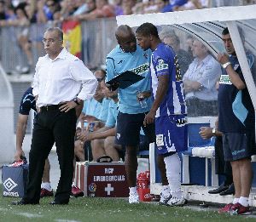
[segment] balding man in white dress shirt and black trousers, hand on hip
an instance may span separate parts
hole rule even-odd
[[[96,77],[83,62],[63,48],[63,32],[54,27],[44,33],[46,55],[39,58],[32,84],[37,98],[29,177],[25,196],[16,205],[38,204],[44,162],[55,143],[61,177],[51,204],[67,204],[73,179],[73,141],[84,100],[95,94]]]

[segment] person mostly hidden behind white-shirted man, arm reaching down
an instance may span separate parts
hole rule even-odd
[[[33,110],[37,113],[36,109],[36,100],[32,94],[32,88],[27,88],[26,92],[23,94],[22,99],[20,100],[20,110],[17,121],[16,128],[16,152],[15,152],[15,161],[19,162],[21,157],[25,157],[25,154],[22,150],[23,140],[26,134],[26,126],[29,117],[29,112]],[[49,159],[47,158],[44,163],[44,174],[41,184],[40,197],[44,196],[53,196],[53,191],[49,182]]]

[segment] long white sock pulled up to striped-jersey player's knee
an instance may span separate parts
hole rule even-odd
[[[169,157],[165,157],[164,160],[166,163],[166,176],[169,182],[171,194],[172,196],[181,198],[182,191],[181,191],[180,159],[177,156],[177,153],[175,153]]]

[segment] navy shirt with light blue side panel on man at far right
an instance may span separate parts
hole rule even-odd
[[[253,55],[247,54],[247,61],[252,68]],[[230,56],[230,63],[245,83],[237,57]],[[218,88],[218,130],[223,133],[246,133],[254,128],[253,103],[247,88],[238,90],[230,81],[228,73],[223,70]]]

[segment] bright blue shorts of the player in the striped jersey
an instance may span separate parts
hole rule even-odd
[[[155,118],[156,148],[159,155],[188,150],[186,115]]]

